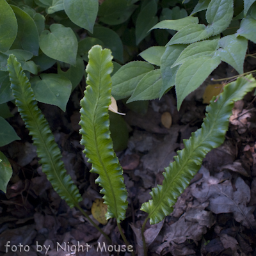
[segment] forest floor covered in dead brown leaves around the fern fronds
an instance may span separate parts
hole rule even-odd
[[[254,60],[246,62],[250,70],[255,69]],[[179,112],[173,89],[161,100],[151,100],[144,116],[120,103],[129,127],[127,148],[116,153],[124,168],[129,196],[127,218],[122,222],[122,228],[137,255],[143,255],[140,230],[147,216],[140,211],[141,204],[150,199],[151,188],[163,181],[164,167],[173,161],[176,151],[184,147],[182,140],[188,139],[191,132],[201,126],[207,106],[202,103],[205,86],[212,83],[212,77],[230,76],[234,76],[232,68],[222,63],[184,100]],[[81,84],[84,90],[84,81]],[[81,207],[93,218],[92,204],[102,195],[94,182],[97,175],[89,172],[90,164],[79,145],[81,97],[81,90],[77,88],[70,97],[66,113],[55,106],[39,106],[61,148],[67,172],[83,195]],[[256,255],[255,104],[253,92],[236,103],[225,142],[207,154],[202,168],[178,198],[172,214],[156,225],[147,223],[148,255]],[[77,209],[70,209],[52,189],[42,173],[36,148],[17,108],[10,104],[10,109],[14,116],[8,121],[21,140],[0,148],[13,167],[7,193],[0,194],[0,256],[70,255],[68,245],[78,242],[87,243],[90,248],[88,252],[76,252],[77,256],[131,255],[128,252],[97,252],[99,243],[109,243]],[[170,128],[162,124],[165,112],[172,115]],[[123,244],[115,220],[99,225],[111,236],[113,245]],[[8,241],[11,246],[6,253],[4,245]],[[63,248],[66,244],[66,250],[60,247],[57,250],[58,243]],[[17,247],[17,252],[12,252],[12,245],[19,244],[27,247]],[[43,246],[42,252],[36,252],[40,249],[36,244]]]

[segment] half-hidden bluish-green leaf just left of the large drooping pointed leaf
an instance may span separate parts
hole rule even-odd
[[[161,58],[161,74],[163,85],[159,98],[163,97],[166,90],[175,84],[175,76],[179,67],[171,68],[175,60],[180,56],[180,53],[186,48],[186,45],[170,45]]]

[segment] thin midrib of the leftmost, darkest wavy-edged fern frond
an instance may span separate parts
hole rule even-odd
[[[16,71],[17,77],[19,77],[19,72],[18,72],[18,74],[17,74],[17,70],[16,70],[16,69],[15,69],[15,71]],[[22,86],[21,86],[21,88],[22,88]],[[44,145],[43,145],[43,147],[45,148],[44,152],[46,152],[46,153],[47,153],[47,156],[49,156],[49,159],[51,159],[52,170],[54,170],[54,175],[55,175],[55,177],[57,177],[57,179],[58,179],[58,181],[59,181],[58,183],[61,184],[61,186],[62,186],[62,187],[64,188],[64,190],[66,191],[66,193],[67,193],[68,195],[70,195],[70,197],[72,198],[74,204],[77,205],[76,199],[69,193],[69,191],[67,190],[67,188],[63,185],[63,182],[61,181],[60,176],[58,175],[58,172],[57,172],[57,170],[56,170],[56,167],[55,167],[54,161],[53,161],[53,159],[52,159],[52,156],[51,156],[51,154],[49,154],[49,150],[47,150],[47,145],[46,145],[46,143],[45,143],[44,136],[42,136],[42,132],[40,131],[40,127],[38,126],[38,122],[36,122],[35,115],[33,115],[33,112],[31,111],[31,108],[30,108],[29,105],[28,105],[28,102],[27,102],[27,100],[26,100],[26,96],[24,95],[24,90],[22,90],[22,97],[23,97],[23,101],[24,101],[25,104],[26,104],[26,108],[28,109],[30,115],[31,115],[32,118],[33,118],[34,123],[36,124],[36,129],[37,129],[38,133],[40,134],[40,140],[43,141],[43,143],[44,143]],[[33,137],[33,136],[32,136],[32,137]],[[35,144],[37,144],[37,143],[35,143]]]

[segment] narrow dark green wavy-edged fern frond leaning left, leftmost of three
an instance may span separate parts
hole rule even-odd
[[[82,197],[65,170],[60,148],[54,141],[54,136],[44,115],[38,109],[28,78],[13,54],[10,54],[8,58],[8,71],[16,106],[33,138],[36,152],[41,158],[42,170],[60,197],[70,207],[74,207],[82,200]]]

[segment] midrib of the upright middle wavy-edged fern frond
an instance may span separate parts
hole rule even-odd
[[[101,74],[101,67],[102,67],[102,65],[101,65],[101,61],[102,60],[100,60],[100,69],[99,69],[99,77],[100,77],[100,84],[99,84],[99,88],[100,88],[100,86],[101,86],[101,76],[100,76],[100,74]],[[98,104],[98,102],[99,102],[99,98],[100,98],[100,90],[98,90],[98,92],[97,92],[97,104],[95,105],[95,111],[94,111],[94,113],[93,113],[93,124],[95,124],[95,118],[96,118],[96,113],[97,113],[97,108],[99,108],[99,104]],[[116,205],[116,196],[115,196],[115,193],[114,193],[114,191],[113,191],[113,186],[112,186],[112,182],[111,182],[111,179],[109,179],[109,175],[108,175],[108,171],[107,171],[107,168],[106,168],[106,166],[104,165],[104,161],[102,161],[102,158],[101,158],[101,156],[100,156],[100,150],[99,150],[99,146],[98,146],[98,140],[97,140],[97,136],[96,136],[96,125],[93,125],[93,133],[94,133],[94,140],[96,141],[96,147],[97,147],[97,156],[98,156],[98,158],[99,158],[99,162],[100,162],[100,164],[101,164],[101,166],[102,166],[102,169],[104,170],[104,172],[106,173],[106,177],[107,177],[107,179],[108,179],[108,182],[109,182],[109,184],[111,184],[111,193],[112,193],[112,195],[113,195],[113,199],[114,199],[114,201],[115,201],[115,216],[117,217],[118,216],[118,214],[117,214],[117,211],[116,211],[116,209],[117,209],[117,205]]]

